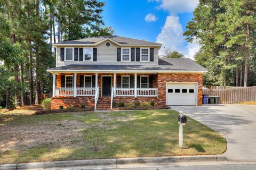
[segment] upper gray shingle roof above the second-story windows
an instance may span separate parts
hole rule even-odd
[[[139,39],[133,39],[133,38],[126,38],[126,37],[121,37],[121,36],[99,36],[99,37],[91,37],[91,38],[84,38],[84,39],[78,39],[78,40],[71,40],[71,41],[63,41],[58,44],[94,44],[97,43],[105,38],[110,38],[114,41],[116,41],[119,44],[133,44],[133,45],[162,45],[158,43],[153,43],[145,40],[139,40]]]

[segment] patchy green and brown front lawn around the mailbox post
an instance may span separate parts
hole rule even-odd
[[[188,118],[179,148],[178,113],[0,113],[0,163],[124,157],[215,155],[226,140]]]

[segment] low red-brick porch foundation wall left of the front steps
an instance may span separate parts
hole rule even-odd
[[[67,108],[68,106],[81,107],[85,105],[87,107],[94,106],[94,96],[90,97],[52,97],[52,109],[59,109],[60,106]]]

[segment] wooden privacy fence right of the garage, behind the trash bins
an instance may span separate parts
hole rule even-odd
[[[229,89],[203,89],[203,95],[220,96],[220,103],[231,104],[256,100],[256,86]]]

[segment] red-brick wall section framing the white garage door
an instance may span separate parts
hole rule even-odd
[[[166,102],[166,82],[197,82],[197,105],[202,106],[203,74],[158,74],[159,105],[165,105]]]

